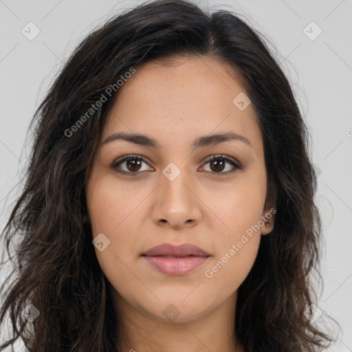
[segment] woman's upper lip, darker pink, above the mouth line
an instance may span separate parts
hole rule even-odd
[[[210,256],[210,254],[191,243],[182,245],[163,243],[144,252],[142,256]]]

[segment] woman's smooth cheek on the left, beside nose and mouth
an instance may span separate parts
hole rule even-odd
[[[135,188],[121,186],[111,175],[91,178],[87,186],[87,207],[91,220],[93,239],[98,234],[104,234],[104,250],[95,248],[96,257],[102,272],[115,287],[121,289],[118,283],[129,282],[129,287],[138,287],[138,281],[131,280],[128,267],[130,261],[137,256],[139,233],[133,227],[137,226],[138,205],[146,195],[137,192]],[[101,235],[100,235],[101,236]],[[92,239],[92,240],[93,240]],[[109,243],[108,245],[105,244]]]

